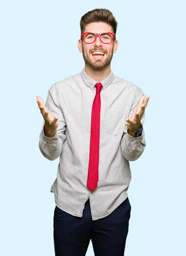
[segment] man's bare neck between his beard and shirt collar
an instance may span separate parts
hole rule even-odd
[[[95,70],[92,67],[85,64],[85,73],[92,79],[96,80],[97,82],[100,82],[106,79],[106,77],[110,75],[111,67],[109,64],[108,66],[104,67],[101,70]]]

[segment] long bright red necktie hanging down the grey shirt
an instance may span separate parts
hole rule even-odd
[[[88,172],[88,179],[87,179],[87,187],[92,191],[97,187],[97,181],[99,181],[98,165],[99,165],[99,148],[100,148],[100,109],[101,109],[100,91],[103,85],[95,84],[95,87],[96,87],[96,95],[92,105],[89,172]]]

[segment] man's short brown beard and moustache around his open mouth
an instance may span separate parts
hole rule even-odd
[[[83,59],[84,59],[85,63],[87,65],[89,65],[90,67],[92,67],[94,70],[101,70],[101,69],[103,69],[104,67],[108,66],[111,63],[112,57],[113,57],[113,49],[114,49],[114,45],[113,45],[112,51],[109,53],[109,55],[108,55],[108,52],[104,49],[91,49],[89,51],[89,55],[88,55],[85,52],[84,47],[82,45]],[[107,55],[107,57],[104,60],[103,59],[92,60],[90,55],[91,55],[91,52],[93,52],[93,51],[105,52],[105,55]]]

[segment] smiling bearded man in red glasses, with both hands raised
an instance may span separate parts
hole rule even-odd
[[[136,85],[114,76],[117,21],[107,9],[81,18],[79,51],[85,67],[49,89],[39,148],[60,157],[54,193],[56,256],[123,256],[131,205],[129,161],[145,148],[144,111],[149,100]],[[146,98],[146,99],[145,99]]]

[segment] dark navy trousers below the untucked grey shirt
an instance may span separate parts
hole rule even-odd
[[[131,205],[126,198],[110,215],[92,221],[90,201],[82,217],[54,209],[55,256],[85,256],[92,240],[95,256],[124,256]]]

